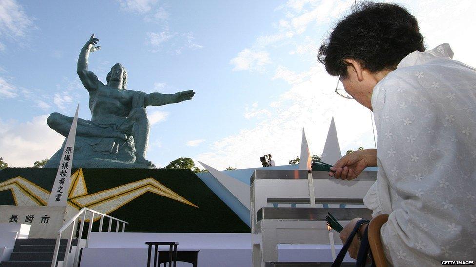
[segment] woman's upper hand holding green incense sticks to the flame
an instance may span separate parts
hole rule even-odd
[[[377,166],[377,149],[364,149],[354,151],[337,160],[331,167],[332,172],[329,176],[336,179],[353,180],[365,168]]]

